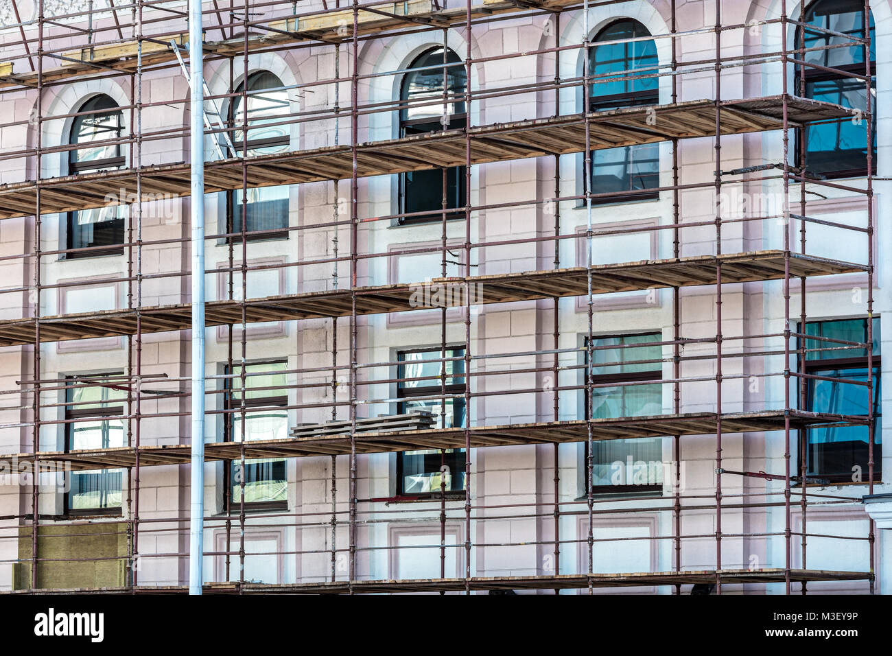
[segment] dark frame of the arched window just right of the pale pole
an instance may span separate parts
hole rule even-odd
[[[254,92],[254,91],[262,91],[263,89],[252,89],[251,88],[252,79],[257,79],[261,75],[267,75],[267,74],[276,78],[279,81],[280,86],[282,86],[282,87],[285,86],[284,84],[282,84],[282,79],[280,79],[276,75],[276,73],[274,73],[272,71],[267,71],[267,70],[253,71],[252,73],[249,73],[247,78],[243,79],[237,87],[235,87],[235,92],[234,92],[235,95],[233,96],[231,101],[227,104],[227,128],[232,130],[233,137],[235,137],[235,131],[243,131],[244,135],[246,137],[248,137],[246,141],[244,139],[233,138],[232,145],[235,146],[235,153],[233,155],[235,157],[240,156],[239,154],[241,154],[244,151],[246,153],[249,153],[248,155],[246,155],[246,157],[250,158],[250,157],[252,157],[250,152],[256,148],[270,148],[270,147],[276,147],[276,146],[285,146],[285,150],[288,150],[291,147],[291,135],[288,134],[287,132],[280,137],[266,137],[266,138],[252,139],[251,131],[252,131],[252,129],[257,129],[257,128],[251,127],[251,118],[250,118],[251,108],[250,107],[247,107],[246,112],[245,112],[248,117],[248,129],[244,129],[243,123],[239,123],[238,125],[235,124],[236,117],[237,117],[236,101],[241,101],[246,104],[248,102],[248,96],[244,95],[244,93],[243,93],[244,87],[248,87],[247,90],[248,90],[249,95],[252,94],[252,92]],[[272,87],[272,88],[275,88],[275,87]],[[247,188],[248,188],[248,190],[251,190],[251,189],[255,189],[255,188],[275,189],[276,187],[285,187],[286,195],[289,196],[288,197],[288,206],[289,206],[289,211],[290,211],[290,206],[291,206],[291,202],[290,202],[291,201],[291,198],[290,198],[291,186],[290,185],[272,185],[269,187],[247,187]],[[241,243],[241,241],[242,241],[243,233],[241,230],[236,232],[235,226],[236,226],[236,224],[241,224],[241,221],[243,219],[247,220],[247,216],[243,215],[242,208],[243,208],[243,205],[245,205],[246,212],[244,212],[244,214],[247,214],[248,213],[247,206],[250,206],[251,203],[238,202],[237,195],[241,191],[243,191],[242,187],[239,187],[238,189],[231,189],[229,191],[223,192],[223,194],[226,198],[225,218],[226,218],[226,233],[227,233],[228,237],[226,237],[225,241],[227,243],[232,242],[232,243],[236,244],[236,243]],[[253,241],[273,241],[273,240],[277,240],[277,239],[287,239],[289,237],[287,214],[288,214],[288,212],[286,212],[286,216],[285,216],[285,228],[282,228],[282,229],[274,228],[272,231],[245,230],[244,231],[245,241],[253,242]],[[237,220],[236,220],[236,217],[237,217]],[[252,233],[257,233],[257,232],[260,232],[261,234],[252,234]]]

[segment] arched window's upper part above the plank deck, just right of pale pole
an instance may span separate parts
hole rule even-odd
[[[248,154],[280,153],[288,149],[288,127],[281,125],[289,112],[288,92],[282,88],[282,80],[269,71],[257,71],[248,76],[247,89],[244,81],[235,89],[230,121],[235,131],[233,145],[241,151],[244,134],[241,129],[248,122]],[[247,95],[247,116],[244,113],[243,94]],[[272,123],[272,125],[270,125]],[[276,125],[279,123],[279,125]]]

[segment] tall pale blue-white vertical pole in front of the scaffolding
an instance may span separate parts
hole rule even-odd
[[[202,594],[204,532],[204,75],[202,0],[189,0],[189,147],[192,162],[192,502],[189,594]]]

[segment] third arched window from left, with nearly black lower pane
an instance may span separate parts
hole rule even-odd
[[[416,70],[409,71],[402,79],[400,99],[412,104],[403,106],[400,110],[400,136],[411,137],[439,129],[464,128],[467,124],[464,101],[452,97],[445,107],[445,114],[442,103],[444,79],[446,94],[449,96],[463,95],[467,88],[465,67],[458,55],[447,50],[444,58],[443,49],[435,48],[419,56],[409,68]],[[400,176],[400,212],[431,213],[405,218],[401,223],[441,219],[444,175],[446,208],[465,206],[467,189],[464,166],[453,166],[446,170],[409,171]],[[459,216],[464,214],[452,212],[446,218]]]

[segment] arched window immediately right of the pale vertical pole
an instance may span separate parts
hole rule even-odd
[[[283,125],[284,116],[289,112],[288,93],[282,88],[280,79],[268,71],[259,71],[248,76],[248,87],[244,82],[235,89],[235,97],[229,104],[229,125],[233,128],[232,141],[235,153],[247,156],[283,153],[291,142],[288,126]],[[245,103],[244,95],[247,96]],[[245,106],[247,110],[245,110]],[[244,124],[247,121],[247,144],[245,144]],[[236,189],[228,195],[227,232],[242,231],[242,190]],[[248,189],[247,223],[245,230],[278,230],[288,227],[288,187],[252,187]],[[286,232],[256,235],[256,239],[287,237]],[[248,237],[249,239],[252,237]]]

